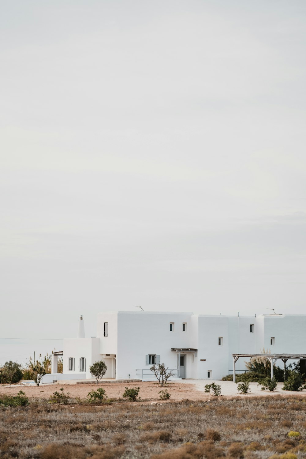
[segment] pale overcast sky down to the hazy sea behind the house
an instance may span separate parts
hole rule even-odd
[[[95,336],[135,305],[305,313],[305,22],[304,0],[1,2],[0,364],[80,314]]]

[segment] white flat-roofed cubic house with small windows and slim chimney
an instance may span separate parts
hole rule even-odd
[[[233,353],[306,353],[305,330],[306,315],[118,311],[98,314],[97,336],[85,338],[81,316],[78,337],[64,340],[64,374],[54,375],[55,356],[48,376],[91,378],[89,365],[102,359],[103,379],[153,379],[150,367],[160,362],[175,377],[219,380],[233,372]],[[245,371],[245,360],[237,361],[236,372]]]

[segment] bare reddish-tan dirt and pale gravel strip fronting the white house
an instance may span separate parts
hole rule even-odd
[[[221,386],[221,394],[223,397],[252,397],[252,396],[305,396],[306,391],[302,392],[287,392],[282,390],[282,383],[278,383],[278,387],[274,392],[261,391],[260,386],[257,383],[250,383],[250,394],[242,395],[237,391],[237,384],[234,384],[230,381],[215,381]],[[99,382],[98,387],[103,387],[106,391],[106,394],[109,398],[122,398],[122,393],[124,392],[125,387],[140,387],[139,396],[143,400],[157,401],[160,400],[159,393],[162,389],[167,388],[168,392],[171,395],[172,401],[179,401],[184,398],[189,398],[189,400],[205,400],[211,397],[210,394],[205,392],[205,385],[207,380],[184,380],[182,381],[173,381],[168,382],[167,386],[161,387],[157,382],[133,382],[133,383],[103,383]],[[23,384],[13,384],[11,386],[1,385],[0,393],[16,395],[17,392],[22,390],[26,393],[27,397],[44,397],[49,398],[55,391],[58,391],[61,387],[64,388],[65,392],[69,392],[71,397],[80,397],[86,398],[88,392],[92,389],[96,389],[96,384],[44,384],[41,386],[25,386]]]

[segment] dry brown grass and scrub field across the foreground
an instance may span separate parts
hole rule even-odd
[[[76,402],[1,406],[0,457],[306,458],[305,397]]]

